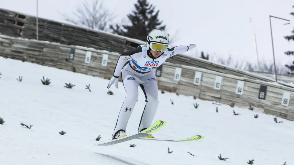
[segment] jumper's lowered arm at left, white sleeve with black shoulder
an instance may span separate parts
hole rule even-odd
[[[129,61],[133,61],[138,57],[138,55],[141,55],[142,47],[138,46],[137,48],[126,51],[121,53],[121,56],[118,58],[114,72],[113,77],[118,78],[121,74],[121,70],[123,69],[123,66],[128,63]]]

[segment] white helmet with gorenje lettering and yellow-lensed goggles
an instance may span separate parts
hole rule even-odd
[[[147,36],[147,50],[165,52],[168,48],[168,34],[162,29],[153,29]]]

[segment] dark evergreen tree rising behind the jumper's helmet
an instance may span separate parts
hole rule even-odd
[[[136,10],[127,15],[131,25],[111,25],[112,33],[145,41],[151,30],[155,28],[165,30],[166,26],[161,26],[163,21],[159,21],[159,10],[155,11],[155,6],[148,3],[147,0],[138,0],[134,6]]]

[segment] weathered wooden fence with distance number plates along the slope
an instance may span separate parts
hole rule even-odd
[[[32,63],[110,79],[119,53],[0,35],[0,54]],[[203,68],[165,62],[156,70],[158,88],[235,106],[255,107],[294,121],[294,89]],[[121,80],[121,77],[119,78]]]

